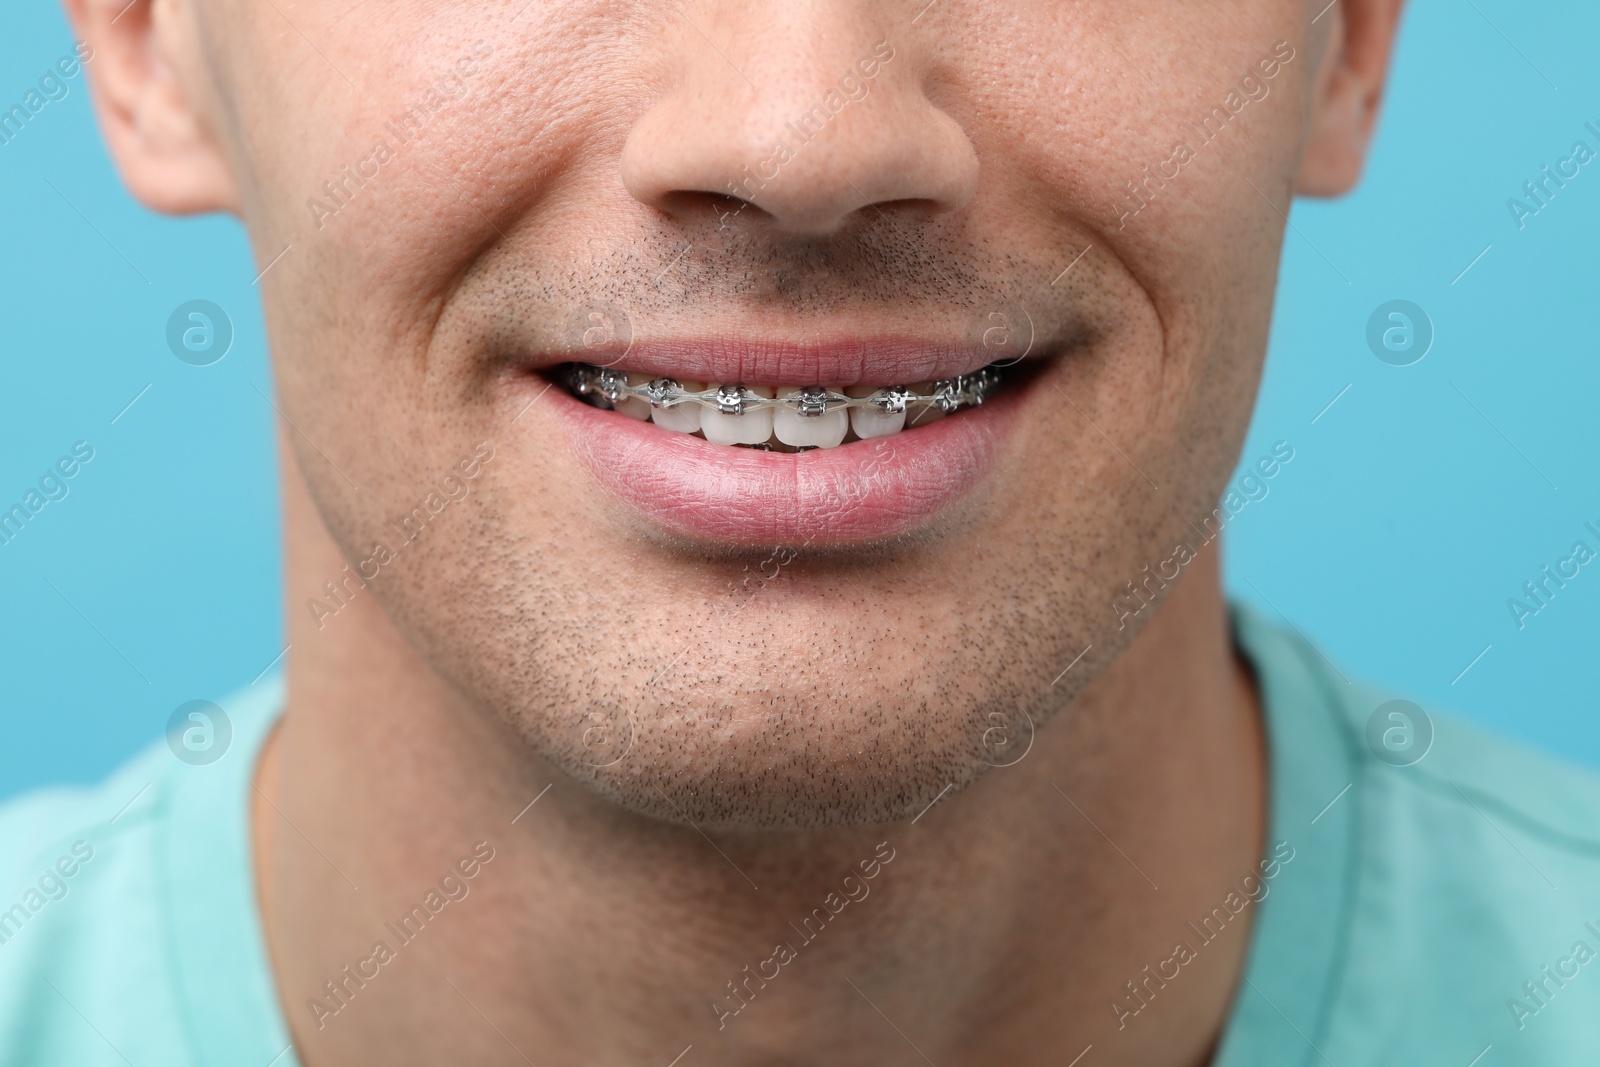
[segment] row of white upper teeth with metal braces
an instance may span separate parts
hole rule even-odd
[[[718,445],[834,448],[850,434],[858,438],[899,434],[907,424],[926,426],[960,408],[978,406],[1000,381],[986,366],[917,386],[715,386],[574,363],[571,390],[634,419],[680,434],[699,432]]]

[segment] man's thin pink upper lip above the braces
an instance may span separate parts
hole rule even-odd
[[[630,374],[750,386],[907,386],[971,374],[1011,352],[910,338],[635,341],[552,352],[533,366],[592,363]]]

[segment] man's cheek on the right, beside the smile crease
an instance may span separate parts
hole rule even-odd
[[[1158,408],[1171,429],[1210,421],[1205,406],[1232,421],[1256,386],[1312,75],[1302,5],[1258,6],[1248,30],[1222,34],[1213,13],[1179,6],[1163,11],[1163,34],[1141,35],[1131,32],[1134,5],[1098,13],[1102,37],[1070,5],[1056,14],[1034,5],[1022,8],[1032,18],[974,37],[1002,51],[1050,42],[1045,61],[1027,70],[974,75],[962,86],[973,90],[970,110],[957,117],[981,138],[986,194],[1003,205],[1045,202],[1077,222],[1078,246],[1093,243],[1090,256],[1123,272],[1134,302],[1149,309],[1139,315],[1157,333],[1160,382],[1136,387],[1155,400],[1126,413],[1134,434]],[[1278,40],[1293,43],[1296,58],[1272,93],[1229,112],[1229,91]],[[976,58],[966,67],[984,69]],[[1206,139],[1205,118],[1219,107],[1226,128]],[[1163,170],[1176,174],[1163,179]]]

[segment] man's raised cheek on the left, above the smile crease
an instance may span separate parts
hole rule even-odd
[[[363,27],[312,8],[301,29],[326,59],[302,54],[270,6],[253,8],[234,59],[258,229],[274,248],[315,245],[368,272],[381,264],[395,288],[426,285],[480,250],[594,141],[610,94],[627,83],[606,56],[571,48],[605,27],[544,8],[514,21],[515,8],[424,18],[402,6]],[[475,42],[490,54],[474,54]],[[456,74],[464,58],[475,61],[469,77]],[[358,165],[379,144],[389,158],[365,178],[373,165]]]

